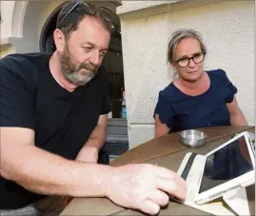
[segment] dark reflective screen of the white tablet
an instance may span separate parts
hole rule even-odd
[[[253,170],[245,136],[207,156],[199,193]]]

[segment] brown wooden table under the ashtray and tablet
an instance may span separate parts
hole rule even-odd
[[[231,136],[241,131],[252,131],[254,127],[212,127],[199,128],[207,134],[207,144],[204,147],[190,148],[181,145],[179,132],[174,132],[163,137],[155,138],[147,143],[134,147],[114,160],[110,166],[117,167],[130,163],[148,163],[167,167],[177,171],[185,154],[195,152],[206,154],[208,151],[219,147]],[[255,187],[246,187],[249,199],[250,211],[254,214]],[[252,197],[252,198],[251,198]],[[66,206],[61,215],[144,215],[142,212],[126,209],[114,205],[107,198],[74,198],[69,206]],[[159,215],[209,215],[198,209],[169,202],[162,208]]]

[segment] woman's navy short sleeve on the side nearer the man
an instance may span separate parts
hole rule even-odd
[[[167,124],[168,128],[173,126],[173,110],[170,106],[169,101],[163,95],[163,91],[160,91],[158,96],[158,102],[156,104],[154,115],[159,115],[159,120],[163,124]]]

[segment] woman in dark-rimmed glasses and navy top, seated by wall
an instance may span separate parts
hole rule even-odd
[[[179,29],[168,43],[167,60],[177,71],[159,93],[155,137],[170,131],[212,126],[246,126],[232,85],[223,69],[204,70],[206,46],[199,32]]]

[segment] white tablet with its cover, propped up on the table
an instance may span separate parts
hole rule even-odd
[[[255,155],[242,132],[225,144],[207,153],[187,153],[178,173],[188,185],[188,200],[205,204],[231,189],[255,183]]]

